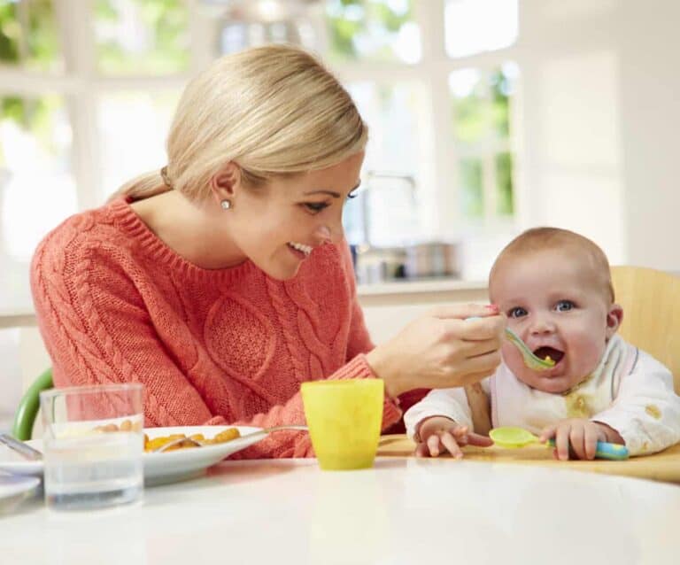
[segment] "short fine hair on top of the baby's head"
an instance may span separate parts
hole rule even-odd
[[[607,298],[614,303],[614,285],[609,268],[609,260],[598,244],[574,231],[561,228],[531,228],[515,237],[498,254],[491,267],[489,281],[501,262],[511,257],[526,255],[531,252],[563,251],[573,249],[579,258],[587,259],[592,272],[599,276],[602,289]]]

